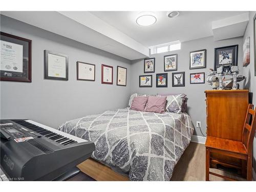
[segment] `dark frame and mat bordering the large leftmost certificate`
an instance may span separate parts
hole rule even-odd
[[[32,40],[0,32],[1,40],[23,46],[23,72],[0,71],[1,81],[32,82]],[[17,69],[17,68],[16,68]]]

